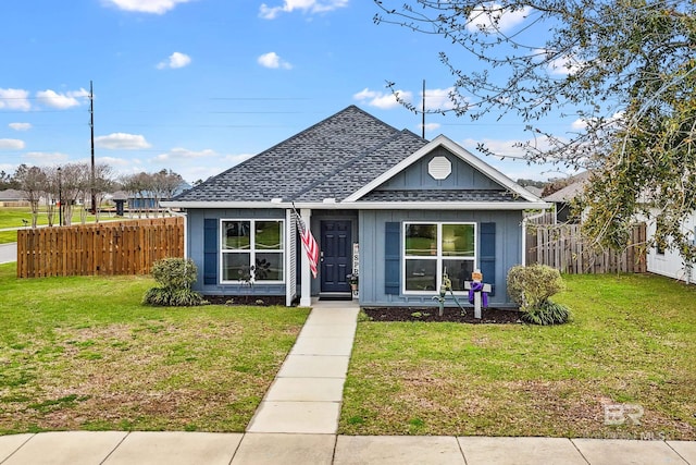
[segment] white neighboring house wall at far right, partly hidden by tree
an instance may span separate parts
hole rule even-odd
[[[655,221],[646,221],[646,236],[655,236]],[[682,223],[684,232],[691,232],[692,241],[696,240],[696,213],[692,213]],[[696,243],[694,243],[696,245]],[[696,264],[686,264],[679,250],[652,246],[647,250],[647,270],[650,273],[662,274],[686,283],[696,282]]]

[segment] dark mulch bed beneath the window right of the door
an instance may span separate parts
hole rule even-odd
[[[522,315],[518,310],[502,308],[484,308],[481,311],[481,319],[474,318],[474,309],[467,308],[462,315],[460,308],[445,308],[443,316],[439,316],[437,307],[363,307],[362,310],[372,321],[451,321],[459,323],[498,323],[498,325],[521,325]]]

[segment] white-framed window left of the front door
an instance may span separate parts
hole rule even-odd
[[[253,282],[284,281],[283,220],[222,220],[222,281],[236,282],[254,267]]]

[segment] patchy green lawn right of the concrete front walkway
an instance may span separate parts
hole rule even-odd
[[[339,432],[696,439],[696,286],[566,280],[559,327],[361,321]]]

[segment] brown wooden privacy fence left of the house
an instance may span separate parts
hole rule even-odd
[[[181,217],[17,231],[18,278],[146,274],[183,256]]]

